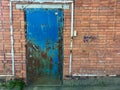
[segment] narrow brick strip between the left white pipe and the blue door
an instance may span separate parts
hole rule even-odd
[[[17,10],[13,3],[13,30],[16,76],[26,77],[25,20],[24,11]]]

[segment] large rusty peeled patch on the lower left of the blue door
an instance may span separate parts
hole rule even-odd
[[[47,55],[47,51],[42,51],[32,42],[27,43],[27,48],[28,81],[32,82],[33,80],[37,80],[37,77],[40,75],[44,75],[47,69],[51,71],[53,68],[53,61],[52,57]],[[37,48],[37,50],[35,48]]]

